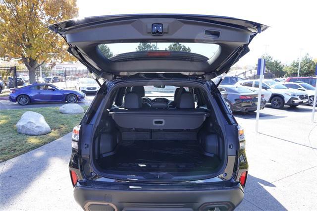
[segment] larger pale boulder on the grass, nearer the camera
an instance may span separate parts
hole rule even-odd
[[[33,136],[51,132],[50,125],[45,121],[44,116],[33,111],[23,113],[21,119],[16,123],[16,128],[18,129],[18,133]]]

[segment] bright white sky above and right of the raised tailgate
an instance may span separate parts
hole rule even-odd
[[[316,0],[77,0],[79,17],[186,13],[229,16],[270,26],[249,45],[237,65],[254,65],[262,54],[290,64],[300,54],[317,58]]]

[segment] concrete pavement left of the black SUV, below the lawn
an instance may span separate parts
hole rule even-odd
[[[70,154],[69,133],[0,163],[0,210],[81,210],[68,173]]]

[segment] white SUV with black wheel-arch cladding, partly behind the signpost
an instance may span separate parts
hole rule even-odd
[[[259,80],[240,81],[237,85],[247,87],[257,91],[259,89]],[[262,93],[267,103],[273,108],[281,109],[286,106],[296,107],[308,104],[308,94],[301,90],[288,89],[281,83],[272,80],[263,80]]]

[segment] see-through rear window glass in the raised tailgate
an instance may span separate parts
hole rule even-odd
[[[110,60],[122,53],[148,51],[190,52],[211,58],[220,50],[219,45],[206,43],[111,43],[98,48]]]

